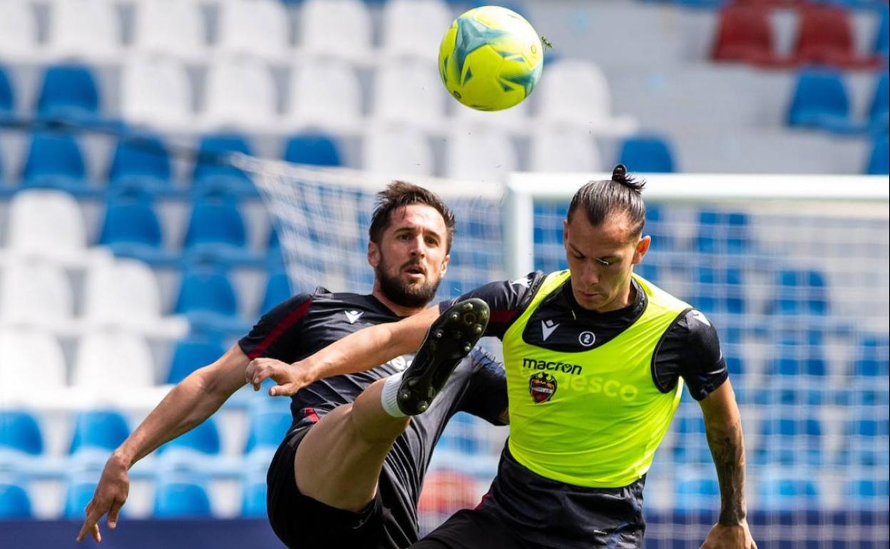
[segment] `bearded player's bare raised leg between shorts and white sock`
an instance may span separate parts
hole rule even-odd
[[[352,404],[331,410],[306,433],[294,461],[303,495],[356,513],[374,498],[384,458],[409,422],[384,411],[384,381],[369,385]]]

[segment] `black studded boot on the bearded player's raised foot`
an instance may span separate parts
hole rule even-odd
[[[455,303],[441,313],[401,377],[396,401],[402,413],[417,416],[430,407],[488,325],[489,305],[478,297]]]

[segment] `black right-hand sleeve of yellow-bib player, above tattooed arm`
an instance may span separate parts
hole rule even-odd
[[[707,397],[729,377],[716,328],[694,309],[667,329],[652,366],[660,391],[672,390],[682,376],[695,400]]]

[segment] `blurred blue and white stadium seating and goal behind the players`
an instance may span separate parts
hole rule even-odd
[[[387,179],[429,182],[457,210],[445,298],[515,276],[517,173],[536,189],[525,262],[554,270],[568,198],[548,186],[621,162],[653,189],[658,174],[714,174],[716,192],[807,174],[871,193],[828,202],[775,177],[793,200],[659,195],[638,271],[718,328],[758,543],[887,546],[886,1],[498,4],[554,48],[529,100],[481,113],[436,68],[475,4],[0,0],[0,545],[74,545],[111,449],[271,306],[319,284],[368,292]],[[303,167],[243,171],[229,152]],[[279,546],[265,471],[287,404],[243,390],[137,464],[103,545]],[[505,437],[452,420],[422,531],[476,505]],[[688,394],[646,500],[648,546],[697,547],[716,520]]]

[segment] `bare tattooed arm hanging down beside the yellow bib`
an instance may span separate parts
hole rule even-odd
[[[700,405],[720,482],[721,499],[720,517],[701,547],[756,549],[748,529],[745,505],[745,441],[739,407],[729,380],[701,400]]]

